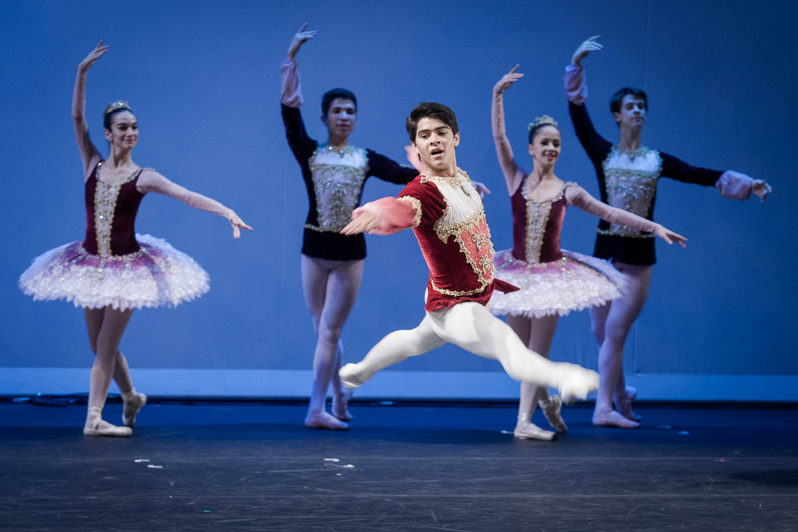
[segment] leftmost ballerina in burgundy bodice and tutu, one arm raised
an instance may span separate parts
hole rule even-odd
[[[69,242],[34,259],[19,278],[23,292],[34,300],[65,299],[83,307],[89,345],[95,353],[89,380],[89,411],[85,435],[128,436],[147,396],[136,392],[128,361],[119,343],[133,309],[178,305],[208,290],[208,275],[187,254],[168,242],[136,234],[134,225],[141,199],[157,192],[191,207],[227,219],[233,238],[246,223],[214,199],[172,183],[152,168],[133,162],[139,139],[138,123],[127,102],[117,100],[105,109],[105,139],[110,154],[103,160],[91,139],[84,116],[86,73],[109,47],[102,41],[77,67],[72,100],[77,146],[83,161],[86,231],[82,241]],[[111,378],[124,401],[118,427],[102,420]]]

